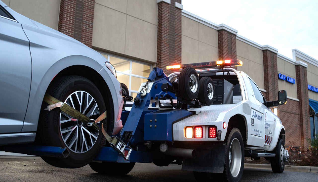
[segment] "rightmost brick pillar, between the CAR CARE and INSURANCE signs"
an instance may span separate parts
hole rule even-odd
[[[301,61],[296,61],[295,68],[297,97],[299,99],[301,148],[306,150],[308,147],[307,138],[310,138],[307,65]]]

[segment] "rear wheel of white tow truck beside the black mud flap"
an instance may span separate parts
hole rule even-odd
[[[223,173],[213,173],[211,179],[217,181],[239,181],[244,168],[244,145],[241,132],[233,128],[227,138]]]

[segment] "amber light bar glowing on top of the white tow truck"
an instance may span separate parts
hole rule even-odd
[[[242,66],[243,62],[238,59],[234,60],[218,60],[218,61],[210,61],[204,63],[191,63],[191,64],[183,64],[183,65],[172,65],[167,66],[167,69],[180,69],[186,67],[193,67],[193,68],[213,68],[220,65],[221,67],[230,66],[230,67],[237,67]]]

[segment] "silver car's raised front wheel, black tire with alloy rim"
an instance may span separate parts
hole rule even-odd
[[[81,76],[55,78],[47,94],[79,110],[91,119],[97,119],[106,110],[102,95],[92,81]],[[45,157],[42,159],[56,167],[78,168],[91,162],[99,153],[104,136],[94,127],[68,116],[58,108],[50,112],[44,110],[48,104],[43,102],[36,143],[46,146],[67,148],[68,157]],[[107,128],[106,119],[97,123]],[[85,139],[85,140],[84,140]]]

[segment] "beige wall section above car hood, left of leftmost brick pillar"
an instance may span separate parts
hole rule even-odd
[[[60,0],[4,0],[12,10],[41,24],[58,29]]]

